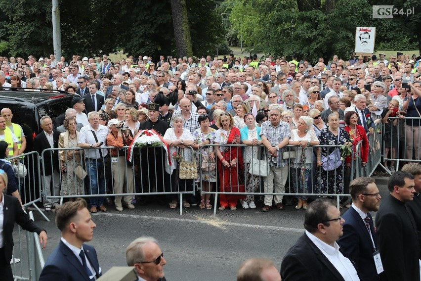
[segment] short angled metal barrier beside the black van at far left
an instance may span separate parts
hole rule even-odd
[[[19,159],[19,163],[24,164],[26,169],[26,176],[20,177],[19,175],[16,175],[16,185],[19,189],[19,195],[23,206],[34,207],[42,215],[42,217],[49,222],[49,219],[36,205],[37,202],[42,201],[40,155],[37,151],[32,151],[16,157],[8,158],[8,160],[12,161],[16,158]]]

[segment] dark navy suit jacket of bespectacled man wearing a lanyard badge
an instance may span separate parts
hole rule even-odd
[[[377,248],[377,235],[374,232],[373,218],[370,213],[367,215],[370,218],[370,231]],[[379,280],[373,258],[373,253],[376,250],[373,248],[373,241],[366,224],[353,207],[349,208],[343,214],[342,218],[345,220],[343,224],[343,235],[337,240],[337,243],[349,259],[357,266],[361,281]]]

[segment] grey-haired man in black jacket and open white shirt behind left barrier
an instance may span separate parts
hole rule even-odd
[[[34,150],[37,151],[40,156],[42,151],[50,148],[58,147],[58,138],[60,134],[53,129],[51,118],[47,115],[43,116],[40,120],[40,126],[42,132],[38,134],[34,139]],[[60,195],[60,172],[59,172],[59,157],[58,150],[49,150],[43,154],[43,165],[45,173],[43,173],[42,183],[44,185],[45,195],[46,196],[58,196]],[[53,192],[51,193],[51,187]],[[45,211],[51,211],[51,207],[55,207],[59,204],[58,198],[44,198],[44,208]]]

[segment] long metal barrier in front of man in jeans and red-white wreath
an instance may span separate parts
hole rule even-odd
[[[42,177],[42,194],[44,200],[50,200],[52,204],[59,204],[64,198],[83,197],[95,200],[97,197],[122,196],[122,202],[126,200],[131,203],[133,195],[155,195],[168,196],[177,195],[180,202],[183,201],[184,194],[195,194],[194,180],[186,181],[179,185],[175,177],[178,170],[174,169],[172,176],[167,173],[168,165],[165,159],[165,149],[161,146],[147,148],[133,148],[133,158],[131,163],[127,159],[128,146],[118,149],[116,154],[111,156],[111,150],[117,148],[105,146],[101,148],[83,149],[72,148],[50,148],[42,152],[42,163],[52,163],[50,167],[42,165],[42,173],[51,169],[55,171],[55,176]],[[89,151],[102,149],[103,159],[88,158]],[[194,153],[189,147],[190,153]],[[67,155],[66,171],[60,169],[60,165],[54,165],[54,152],[62,151]],[[105,153],[106,152],[106,153]],[[169,151],[168,151],[169,153]],[[97,153],[99,155],[99,153]],[[117,156],[119,155],[119,156]],[[54,156],[58,157],[58,156]],[[45,161],[47,158],[48,161]],[[171,161],[174,161],[171,159]],[[57,163],[57,161],[56,161]],[[76,168],[86,172],[84,180],[78,178]],[[46,169],[47,168],[47,169]],[[46,183],[50,180],[50,187],[56,184],[59,188],[51,188],[50,193],[46,190]],[[60,202],[58,201],[60,200]],[[124,202],[123,202],[124,205]],[[182,203],[179,204],[180,215],[182,214]]]

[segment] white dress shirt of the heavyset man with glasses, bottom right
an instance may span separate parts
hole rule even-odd
[[[355,269],[352,262],[345,258],[341,252],[339,252],[339,245],[337,242],[329,245],[314,236],[313,234],[305,231],[305,234],[310,240],[316,245],[317,248],[325,255],[325,257],[332,263],[339,274],[343,277],[344,281],[359,281],[357,270]]]

